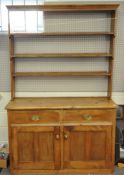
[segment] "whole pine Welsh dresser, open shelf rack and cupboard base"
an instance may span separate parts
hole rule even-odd
[[[115,46],[116,9],[119,4],[66,4],[7,6],[14,11],[43,11],[52,14],[95,12],[110,16],[109,31],[59,31],[16,33],[9,21],[11,101],[6,106],[11,174],[45,173],[112,173],[115,157],[116,104],[112,101],[112,74]],[[55,16],[55,15],[53,15]],[[64,15],[65,16],[65,15]],[[11,17],[11,15],[9,16]],[[107,16],[108,17],[108,16]],[[10,19],[10,18],[9,18]],[[69,18],[70,19],[70,18]],[[75,18],[76,19],[76,18]],[[11,20],[11,19],[10,19]],[[108,24],[108,23],[107,23]],[[26,25],[26,24],[25,24]],[[15,30],[16,31],[16,30]],[[52,36],[52,37],[51,37]],[[107,37],[107,53],[17,53],[16,43],[29,37]],[[22,40],[21,40],[22,41]],[[30,40],[29,40],[30,41]],[[18,72],[16,59],[102,59],[108,61],[107,71]],[[105,97],[16,97],[18,77],[104,77],[108,79]]]

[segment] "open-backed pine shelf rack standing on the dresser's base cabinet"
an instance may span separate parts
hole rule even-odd
[[[114,47],[115,47],[115,11],[119,4],[61,4],[61,5],[14,5],[7,6],[8,16],[10,11],[50,11],[50,12],[101,12],[111,13],[111,30],[106,32],[43,32],[43,33],[11,33],[10,21],[9,26],[9,39],[10,39],[10,67],[11,67],[11,99],[15,97],[15,83],[16,77],[40,77],[40,76],[82,76],[82,77],[96,77],[106,76],[108,79],[107,97],[112,97],[112,75],[113,75],[113,58],[114,58]],[[10,19],[10,18],[9,18]],[[110,36],[110,49],[109,53],[14,53],[14,38],[15,37],[42,37],[42,36]],[[15,72],[15,61],[16,58],[31,59],[31,58],[109,58],[108,59],[108,71],[94,71],[94,72]]]

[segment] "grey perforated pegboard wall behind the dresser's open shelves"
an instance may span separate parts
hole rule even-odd
[[[114,62],[113,91],[124,90],[124,2],[119,2]],[[44,30],[110,31],[110,15],[105,13],[45,13]],[[32,37],[16,38],[15,53],[108,52],[109,37]],[[93,71],[107,70],[106,58],[18,59],[16,71]],[[0,91],[10,91],[9,47],[7,34],[0,34]],[[20,92],[104,92],[106,78],[47,77],[17,78]]]

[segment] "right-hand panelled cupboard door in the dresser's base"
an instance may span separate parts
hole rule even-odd
[[[111,125],[65,126],[64,168],[110,168],[112,166],[111,133]]]

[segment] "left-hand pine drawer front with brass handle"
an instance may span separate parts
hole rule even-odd
[[[52,110],[42,111],[13,111],[10,112],[9,120],[15,124],[38,124],[59,122],[59,112]]]

